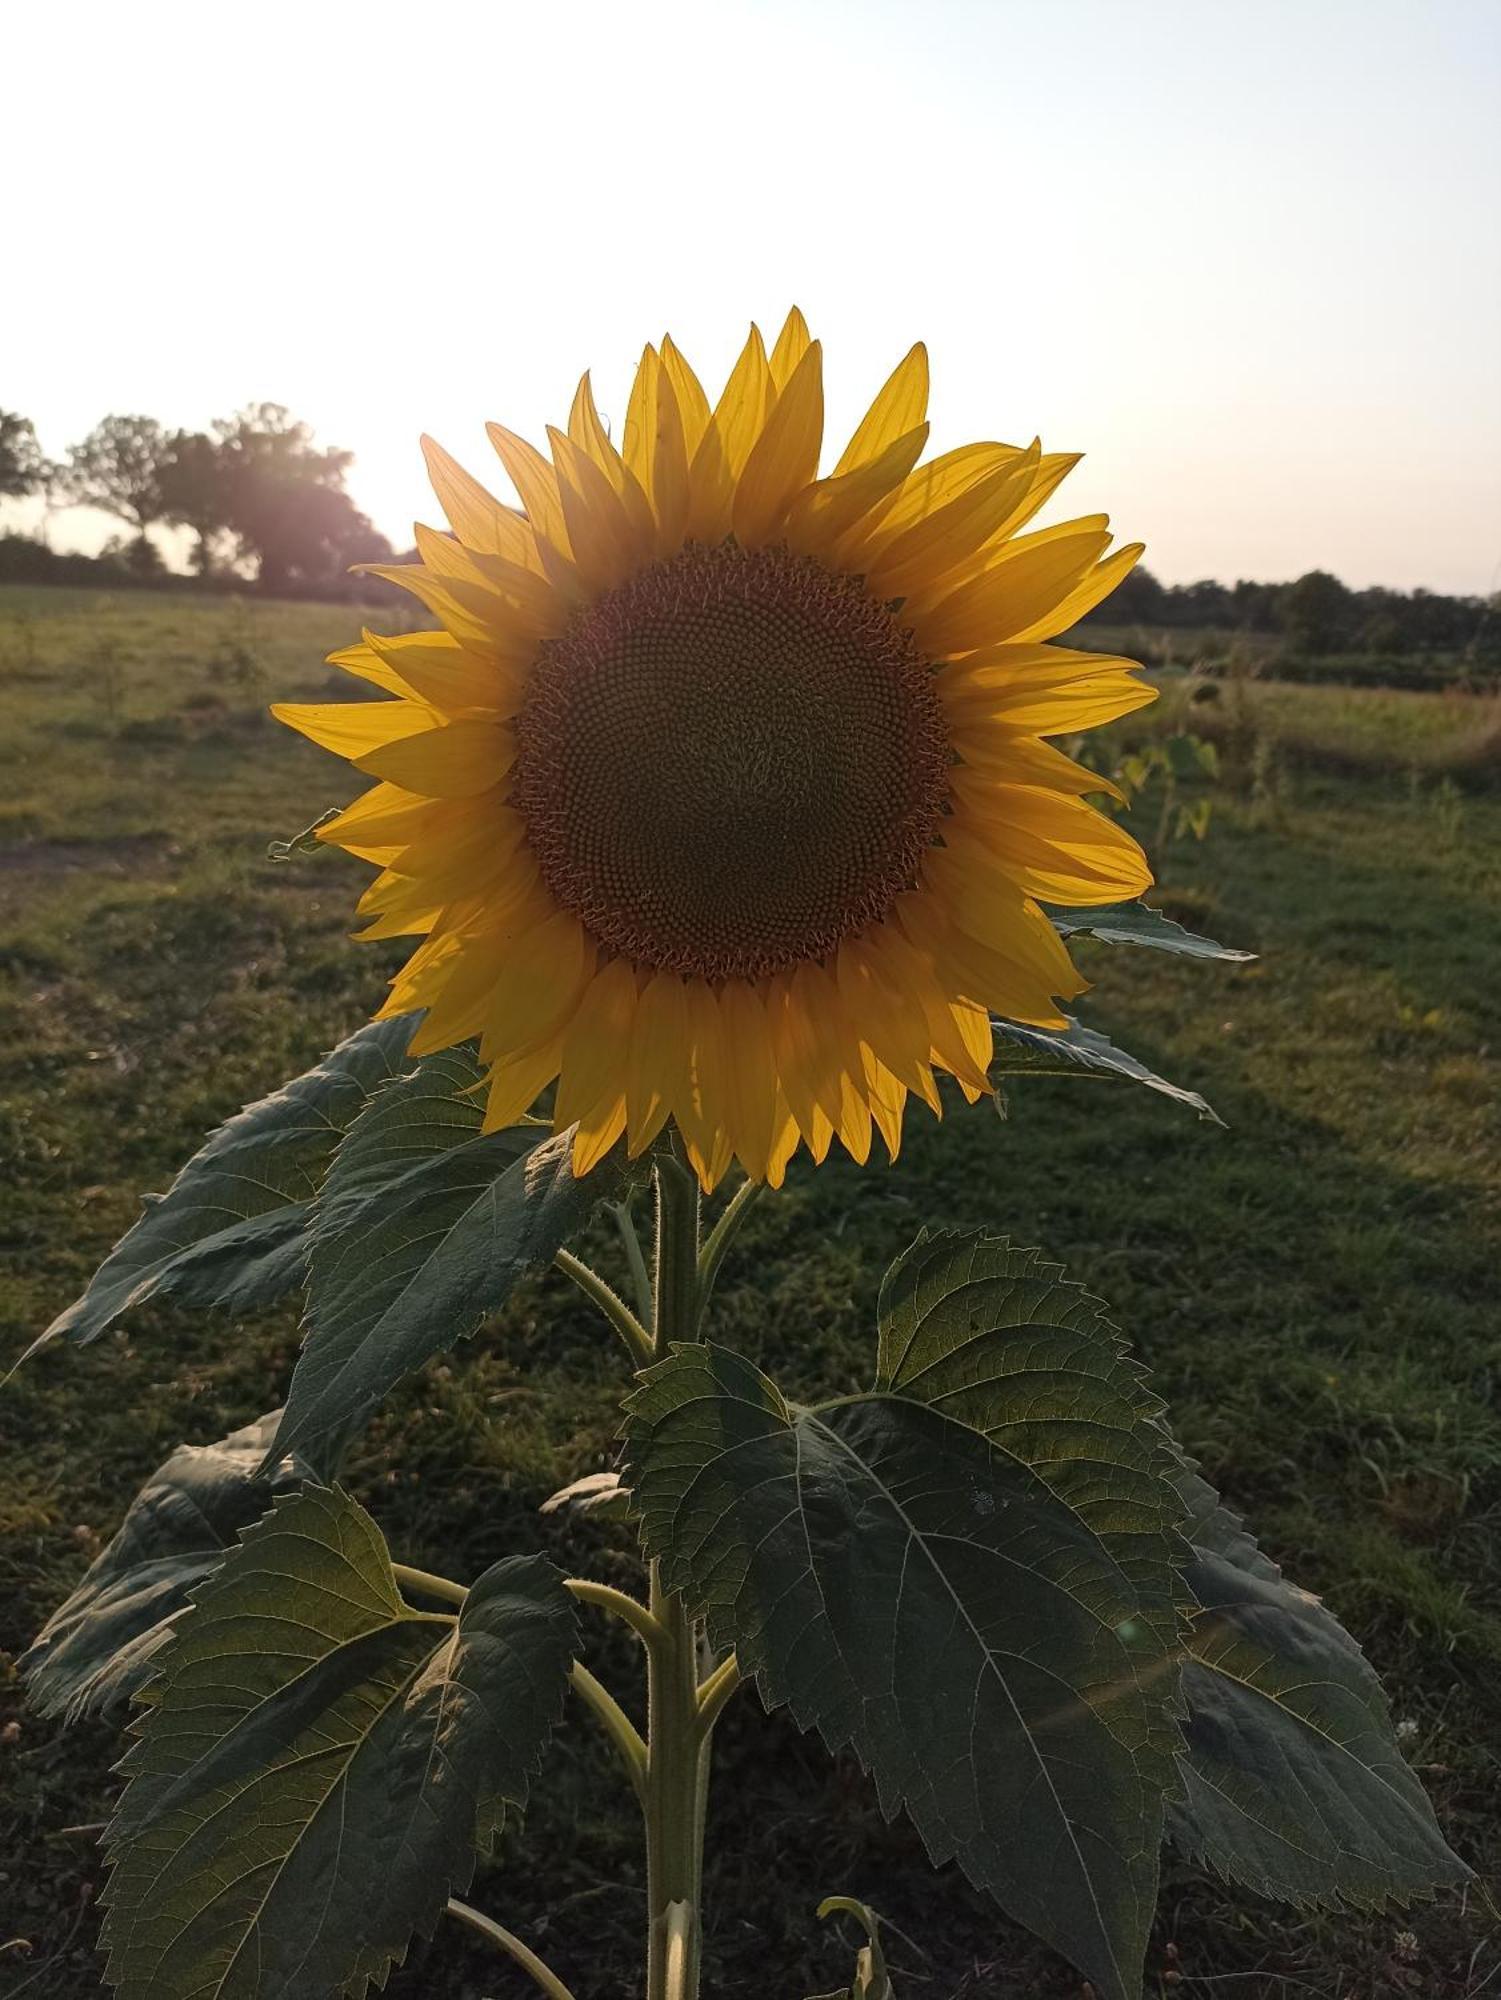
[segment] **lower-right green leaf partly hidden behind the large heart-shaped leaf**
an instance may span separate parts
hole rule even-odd
[[[1295,1904],[1377,1908],[1467,1880],[1361,1648],[1205,1480],[1183,1474],[1183,1492],[1201,1610],[1183,1668],[1175,1844]]]

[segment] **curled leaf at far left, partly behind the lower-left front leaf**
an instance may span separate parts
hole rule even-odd
[[[122,1708],[156,1672],[190,1590],[218,1568],[240,1528],[278,1492],[316,1478],[300,1458],[258,1474],[280,1414],[218,1444],[182,1444],[152,1472],[120,1532],[20,1658],[40,1714],[76,1722]]]

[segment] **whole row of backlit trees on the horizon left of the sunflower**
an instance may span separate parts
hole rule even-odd
[[[164,574],[156,526],[192,532],[200,576],[254,576],[270,594],[312,594],[340,584],[354,562],[388,560],[390,542],[344,490],[352,462],[276,402],[208,430],[106,416],[58,462],[24,416],[0,410],[0,498],[36,494],[126,522],[134,540],[124,560],[142,580]]]

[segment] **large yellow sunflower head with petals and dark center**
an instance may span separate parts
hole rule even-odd
[[[1141,546],[1021,534],[1077,462],[1037,442],[919,464],[927,390],[919,344],[821,478],[795,310],[712,406],[648,346],[618,448],[588,376],[550,456],[492,424],[518,510],[424,440],[452,534],[374,574],[440,630],[332,654],[380,700],[274,712],[378,780],[320,838],[380,868],[362,934],[420,940],[382,1016],[478,1036],[486,1128],[556,1080],[580,1174],[668,1120],[704,1190],[895,1156],[935,1072],[989,1088],[991,1014],[1081,992],[1039,902],[1149,884],[1047,742],[1151,700],[1049,644]]]

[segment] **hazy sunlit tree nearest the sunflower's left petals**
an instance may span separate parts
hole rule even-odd
[[[390,554],[344,492],[354,454],[314,444],[312,428],[282,404],[250,404],[214,434],[228,524],[264,590],[330,588],[350,564]]]

